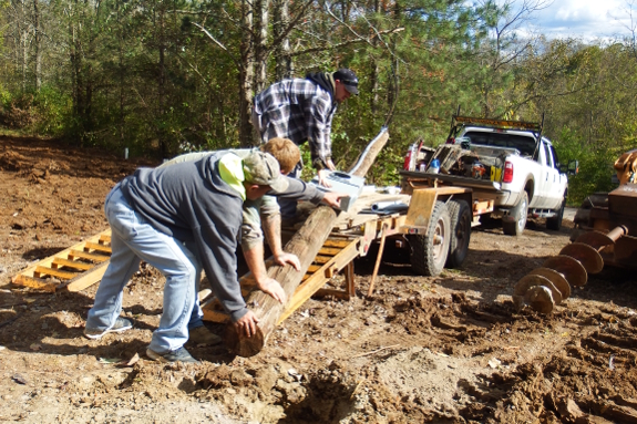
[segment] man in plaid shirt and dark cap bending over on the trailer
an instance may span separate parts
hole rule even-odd
[[[274,137],[289,138],[297,145],[309,142],[319,183],[329,187],[326,170],[336,169],[331,159],[331,121],[337,105],[352,94],[358,95],[358,79],[349,69],[309,73],[305,79],[284,80],[255,96],[253,125],[258,131],[261,143]],[[301,167],[299,162],[288,176],[299,177]],[[281,217],[292,218],[296,203],[279,203]]]

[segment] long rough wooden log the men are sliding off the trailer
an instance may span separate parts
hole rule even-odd
[[[388,139],[389,133],[383,128],[383,131],[381,131],[381,133],[370,142],[361,154],[361,157],[358,159],[351,174],[358,177],[364,177]],[[285,246],[285,251],[295,254],[299,258],[301,263],[300,272],[297,272],[289,265],[286,267],[273,266],[268,269],[268,277],[274,278],[281,283],[281,287],[286,292],[288,303],[323,242],[329,237],[333,224],[339,215],[340,213],[337,214],[336,210],[328,206],[317,207],[310,214],[302,227]],[[246,303],[259,320],[257,334],[251,338],[246,338],[244,334],[238,334],[233,324],[228,324],[226,327],[224,338],[226,345],[233,352],[245,358],[253,356],[263,350],[268,337],[274,331],[279,317],[287,307],[287,304],[280,304],[260,290],[251,292],[247,298]]]

